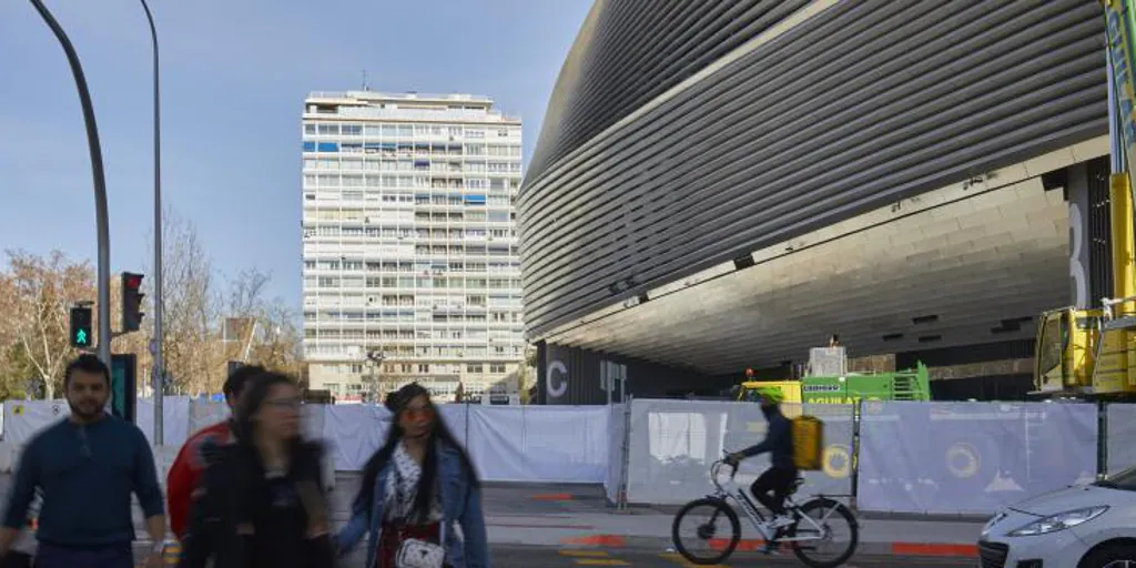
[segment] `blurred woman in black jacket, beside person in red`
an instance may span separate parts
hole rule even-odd
[[[236,419],[236,442],[212,450],[182,566],[331,567],[320,449],[300,435],[299,389],[287,376],[258,375]]]

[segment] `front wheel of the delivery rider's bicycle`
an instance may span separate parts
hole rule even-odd
[[[684,520],[694,521],[695,538],[691,542],[685,542],[682,536]],[[722,527],[728,531],[726,534],[718,527],[721,520],[728,523],[728,526]],[[737,521],[737,513],[725,501],[713,498],[699,499],[686,503],[675,515],[670,537],[675,541],[678,553],[690,562],[717,565],[734,553],[738,541],[742,540],[742,524]],[[698,544],[704,548],[696,546]]]

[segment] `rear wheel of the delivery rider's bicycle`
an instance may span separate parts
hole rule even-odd
[[[852,558],[860,542],[860,526],[844,503],[818,498],[801,506],[797,512],[801,517],[790,529],[790,536],[816,537],[816,540],[792,541],[793,554],[797,559],[813,568],[836,568]],[[817,531],[804,517],[812,519],[812,523],[819,525],[822,531]]]

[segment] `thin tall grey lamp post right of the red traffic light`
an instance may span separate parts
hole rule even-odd
[[[147,22],[150,23],[150,40],[153,43],[153,343],[150,351],[153,354],[153,366],[151,368],[151,384],[153,387],[153,442],[162,444],[165,420],[165,374],[161,359],[161,103],[160,84],[158,81],[158,28],[153,25],[153,14],[145,0],[142,9],[145,10]]]

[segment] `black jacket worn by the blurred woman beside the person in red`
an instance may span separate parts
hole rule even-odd
[[[314,515],[327,519],[318,444],[301,442],[290,471],[276,478],[248,445],[203,448],[202,454],[203,494],[190,512],[181,568],[204,568],[210,559],[214,568],[333,566],[329,537],[307,537]]]

